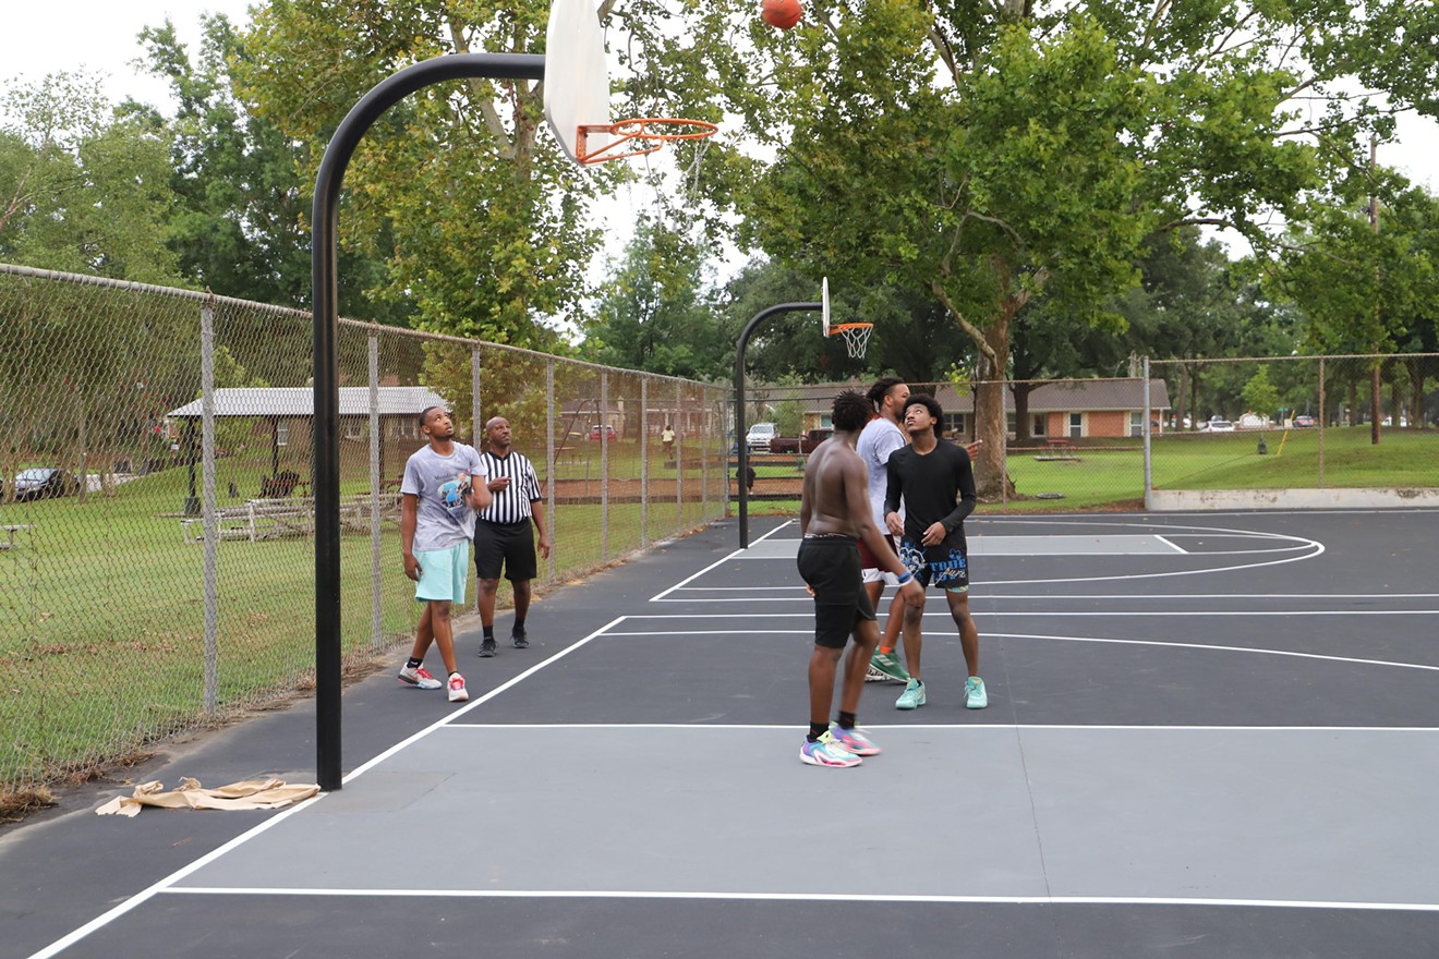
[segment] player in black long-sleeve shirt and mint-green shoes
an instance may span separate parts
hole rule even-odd
[[[885,490],[885,525],[899,536],[899,559],[920,585],[944,589],[950,615],[960,630],[960,647],[968,679],[964,705],[989,706],[989,693],[980,679],[980,633],[970,617],[970,556],[964,542],[964,518],[974,512],[974,467],[964,447],[941,443],[944,410],[934,397],[912,394],[904,413],[909,446],[889,454]],[[899,519],[899,500],[905,516]],[[920,679],[922,608],[907,607],[904,618],[905,661],[909,683],[895,702],[896,709],[918,709],[925,703]]]

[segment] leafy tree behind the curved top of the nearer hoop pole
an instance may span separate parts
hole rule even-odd
[[[304,144],[314,183],[330,134],[387,75],[442,53],[535,52],[548,3],[504,9],[442,0],[337,7],[283,0],[256,9],[232,62],[246,109]],[[616,171],[581,174],[540,137],[540,85],[430,86],[391,108],[345,175],[341,244],[383,257],[371,293],[417,312],[417,326],[553,348],[541,321],[578,308],[600,231],[587,208]]]

